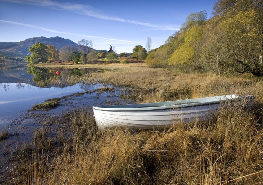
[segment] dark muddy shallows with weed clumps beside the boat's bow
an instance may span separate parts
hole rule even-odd
[[[11,121],[5,128],[8,132],[7,138],[0,141],[0,183],[11,182],[11,179],[15,178],[21,156],[32,154],[31,150],[45,145],[41,138],[53,145],[51,148],[54,151],[47,152],[50,158],[61,151],[65,142],[70,143],[74,137],[72,120],[76,115],[93,116],[92,106],[95,105],[135,103],[131,99],[123,99],[119,88],[110,85],[93,87],[49,99],[46,102],[56,101],[57,104],[47,109],[28,110]]]

